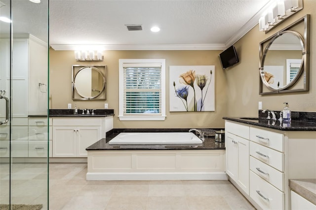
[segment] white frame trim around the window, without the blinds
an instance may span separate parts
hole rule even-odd
[[[140,63],[154,63],[154,64],[161,64],[161,115],[154,116],[124,116],[123,114],[123,102],[124,102],[124,87],[123,87],[123,80],[124,80],[124,64],[140,64]],[[118,117],[119,120],[165,120],[165,113],[166,113],[166,93],[165,93],[165,59],[119,59],[118,60]]]

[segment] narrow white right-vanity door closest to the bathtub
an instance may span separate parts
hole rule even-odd
[[[231,133],[225,135],[226,173],[235,181],[238,178],[238,141],[236,138],[237,136]]]

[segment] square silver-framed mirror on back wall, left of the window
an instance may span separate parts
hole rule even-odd
[[[106,100],[106,66],[73,65],[73,100]]]

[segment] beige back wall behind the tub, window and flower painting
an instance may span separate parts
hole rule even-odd
[[[221,50],[206,51],[104,51],[103,62],[77,62],[73,51],[50,49],[50,107],[114,109],[114,128],[223,128],[227,110],[226,78],[219,62]],[[166,59],[166,119],[165,121],[118,120],[118,59]],[[72,65],[107,65],[107,100],[72,100]],[[215,111],[169,112],[169,66],[215,65]],[[172,86],[173,87],[173,86]]]

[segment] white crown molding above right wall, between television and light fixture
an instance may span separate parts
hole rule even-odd
[[[260,17],[264,14],[265,11],[275,2],[275,0],[268,1],[252,18],[243,25],[238,32],[232,36],[228,41],[225,43],[225,47],[228,48],[235,44],[242,36],[246,35],[251,29],[259,24]]]

